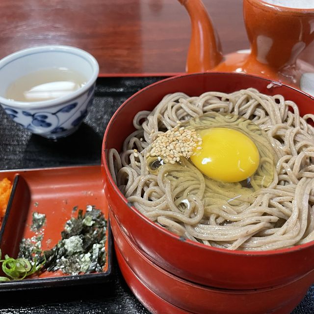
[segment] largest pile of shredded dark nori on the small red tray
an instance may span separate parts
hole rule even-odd
[[[101,210],[88,205],[83,215],[83,210],[79,209],[78,217],[66,222],[57,245],[44,252],[46,263],[43,270],[60,269],[70,275],[103,272],[106,227]]]

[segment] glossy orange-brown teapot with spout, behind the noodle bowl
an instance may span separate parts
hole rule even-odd
[[[255,74],[314,95],[314,67],[298,59],[314,40],[314,6],[291,8],[288,0],[286,6],[272,4],[285,3],[284,0],[243,0],[251,49],[223,56],[218,35],[202,1],[179,1],[191,19],[187,72]]]

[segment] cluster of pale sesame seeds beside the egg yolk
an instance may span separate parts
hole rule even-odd
[[[202,139],[194,129],[176,126],[157,136],[146,157],[161,157],[164,163],[175,164],[180,157],[190,158],[201,149]]]

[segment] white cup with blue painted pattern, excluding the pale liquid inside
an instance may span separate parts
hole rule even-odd
[[[86,78],[86,84],[52,100],[22,102],[6,98],[8,87],[22,76],[49,68],[67,68]],[[34,134],[60,138],[72,134],[92,105],[97,60],[69,46],[42,46],[13,53],[0,60],[0,105],[15,122]]]

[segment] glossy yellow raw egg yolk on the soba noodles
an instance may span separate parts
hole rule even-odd
[[[239,182],[250,177],[259,167],[260,154],[245,134],[229,128],[210,128],[198,132],[201,149],[191,160],[209,178]]]

